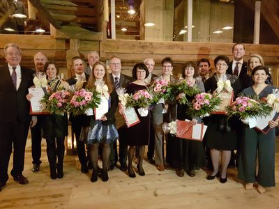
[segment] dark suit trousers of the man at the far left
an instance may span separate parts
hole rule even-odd
[[[8,164],[13,151],[12,176],[21,176],[24,169],[24,154],[29,122],[0,123],[0,183],[8,180]]]

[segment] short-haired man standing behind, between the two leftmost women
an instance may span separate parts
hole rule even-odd
[[[79,81],[86,81],[89,78],[89,75],[84,73],[84,63],[82,59],[79,56],[75,56],[72,59],[72,68],[75,72],[75,75],[69,79],[66,80],[70,86],[73,86],[75,88],[75,84],[77,83],[77,80]],[[84,125],[84,117],[83,116],[73,116],[73,114],[70,114],[69,120],[72,123],[73,132],[75,134],[75,139],[77,142],[77,155],[80,160],[82,173],[88,173],[87,168],[87,157],[85,152],[85,146],[84,142],[80,141],[80,132],[82,130],[82,125]]]

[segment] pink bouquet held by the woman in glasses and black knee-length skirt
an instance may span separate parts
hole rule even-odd
[[[192,102],[188,102],[187,114],[192,118],[209,116],[213,111],[216,111],[220,102],[221,99],[217,95],[199,93],[195,95]]]

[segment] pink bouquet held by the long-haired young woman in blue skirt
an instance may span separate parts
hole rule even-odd
[[[78,116],[84,114],[89,108],[98,107],[98,104],[100,104],[100,93],[81,88],[73,93],[73,97],[68,104],[68,111],[73,116]]]

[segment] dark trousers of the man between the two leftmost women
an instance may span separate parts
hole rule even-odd
[[[80,132],[82,130],[82,122],[80,120],[75,120],[75,118],[72,119],[72,128],[73,132],[75,134],[75,140],[77,141],[77,155],[80,160],[80,164],[82,166],[86,166],[87,159],[86,159],[86,152],[85,152],[85,146],[84,142],[80,141]]]

